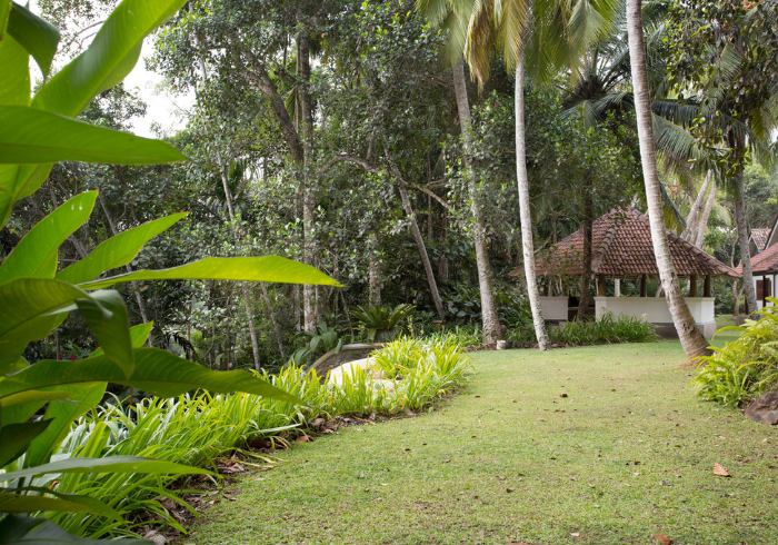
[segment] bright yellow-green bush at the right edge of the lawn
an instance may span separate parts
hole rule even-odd
[[[774,305],[778,300],[767,298]],[[762,318],[746,320],[742,326],[719,329],[740,331],[737,340],[724,348],[711,346],[707,365],[692,380],[697,394],[711,402],[739,407],[778,385],[778,309],[761,309]]]

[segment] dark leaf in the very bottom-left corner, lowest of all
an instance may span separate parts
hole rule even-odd
[[[48,518],[7,515],[0,521],[0,545],[104,545],[104,541],[68,534]],[[121,545],[151,545],[148,539],[121,539]]]

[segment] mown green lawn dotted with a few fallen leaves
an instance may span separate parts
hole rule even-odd
[[[677,341],[477,353],[462,394],[282,453],[184,543],[778,543],[778,430],[698,402],[682,361]]]

